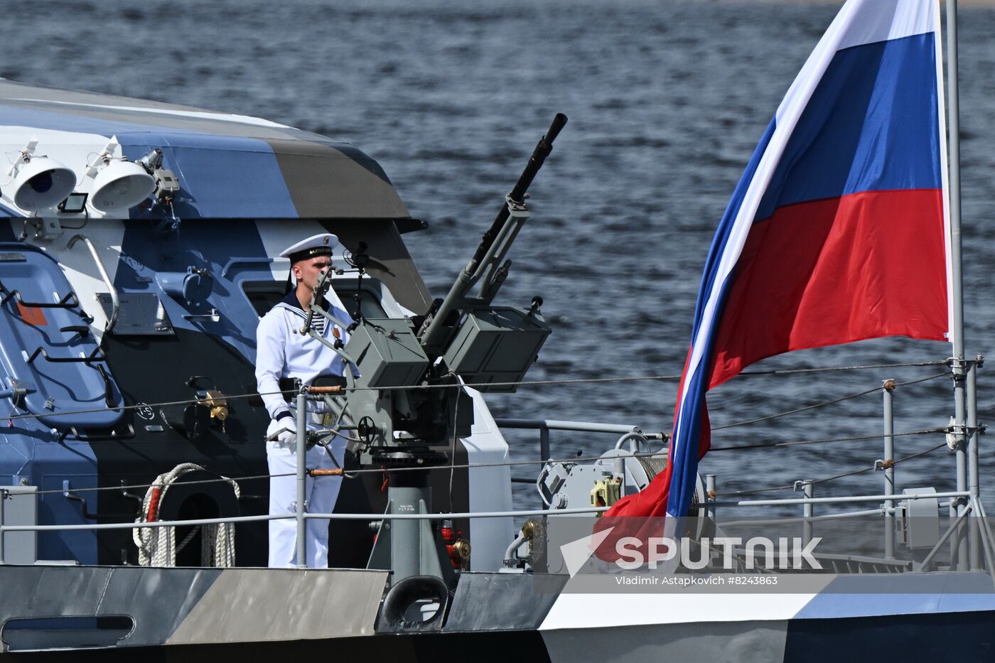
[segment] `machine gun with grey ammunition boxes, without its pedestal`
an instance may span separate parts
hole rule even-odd
[[[474,257],[417,329],[410,320],[363,319],[349,330],[342,354],[356,368],[355,386],[366,387],[349,397],[349,411],[363,413],[357,426],[369,417],[360,431],[364,462],[376,464],[375,456],[388,449],[447,445],[454,435],[468,435],[469,397],[464,394],[461,403],[462,389],[441,387],[463,379],[482,391],[514,391],[535,361],[550,333],[539,312],[542,300],[533,299],[528,309],[492,302],[510,267],[505,258],[511,243],[529,217],[528,186],[566,120],[562,113],[553,119]]]

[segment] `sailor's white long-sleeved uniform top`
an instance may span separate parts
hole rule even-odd
[[[352,324],[352,318],[340,304],[329,305],[325,300],[324,309],[345,325]],[[310,384],[318,375],[343,374],[344,362],[333,349],[300,333],[306,320],[307,314],[300,308],[297,294],[291,291],[263,317],[256,330],[256,384],[271,419],[290,410],[287,400],[278,393],[280,378],[297,377],[304,384]],[[326,323],[323,337],[329,342],[339,338],[344,343],[349,339],[347,331],[331,321],[322,320]],[[308,410],[314,405],[319,406],[315,409],[323,408],[323,403],[311,403]]]

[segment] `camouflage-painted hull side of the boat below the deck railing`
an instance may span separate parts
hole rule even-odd
[[[524,655],[574,663],[995,656],[995,599],[957,591],[963,583],[987,582],[985,574],[925,573],[900,580],[920,583],[921,593],[907,592],[906,584],[903,593],[710,595],[710,603],[702,604],[682,594],[634,601],[632,594],[557,592],[566,576],[466,573],[444,622],[417,632],[390,632],[394,628],[384,623],[380,605],[387,579],[383,571],[351,569],[3,566],[4,595],[18,598],[0,608],[0,659],[355,654],[391,661],[503,661]],[[825,586],[855,579],[829,576]],[[682,605],[686,609],[676,612]],[[711,620],[697,615],[702,605],[712,611]],[[28,629],[7,627],[12,619],[54,616],[105,623],[126,616],[131,627],[104,628],[102,635],[99,628],[66,629],[59,639],[47,637],[46,651],[32,651],[38,643]]]

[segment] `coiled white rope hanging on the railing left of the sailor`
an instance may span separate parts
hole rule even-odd
[[[196,463],[181,463],[165,474],[160,474],[148,487],[141,503],[141,515],[135,523],[157,521],[158,510],[166,498],[169,487],[181,477],[190,472],[203,472],[203,467]],[[239,484],[228,477],[221,477],[235,491],[235,498],[241,497]],[[142,566],[175,566],[176,555],[189,544],[200,532],[200,564],[201,566],[234,566],[235,565],[235,524],[204,525],[193,528],[190,533],[176,545],[176,528],[137,528],[132,539],[138,547],[138,563]]]

